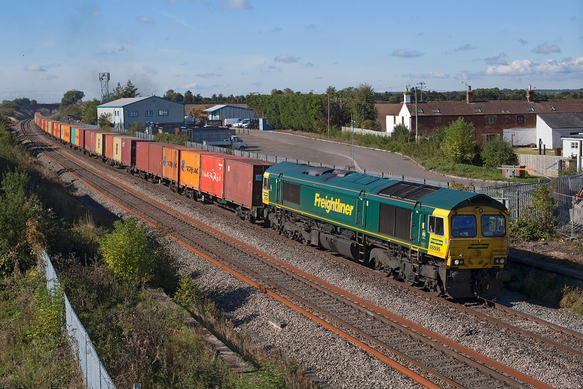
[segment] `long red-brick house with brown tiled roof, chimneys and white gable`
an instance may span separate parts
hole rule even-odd
[[[466,101],[411,101],[405,91],[403,103],[386,116],[387,132],[397,124],[417,129],[419,136],[431,135],[433,129],[446,127],[463,117],[475,127],[476,141],[483,144],[492,138],[504,137],[518,144],[536,142],[536,115],[541,113],[583,113],[583,99],[534,101],[534,90],[528,87],[527,99],[474,101],[471,86],[466,91]],[[416,108],[415,108],[416,106]]]

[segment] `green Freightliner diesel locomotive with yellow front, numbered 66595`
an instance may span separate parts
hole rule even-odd
[[[435,295],[489,297],[510,278],[507,210],[486,195],[283,162],[262,196],[271,228]]]

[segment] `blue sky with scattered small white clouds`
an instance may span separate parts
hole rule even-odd
[[[583,1],[0,0],[0,99],[583,88]]]

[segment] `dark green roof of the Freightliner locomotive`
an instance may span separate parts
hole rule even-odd
[[[344,169],[282,162],[269,167],[267,172],[284,174],[306,184],[330,185],[333,188],[353,192],[364,190],[369,195],[387,199],[403,199],[411,206],[419,202],[421,206],[446,210],[455,210],[465,206],[493,206],[500,210],[506,209],[499,201],[479,193],[387,179]]]

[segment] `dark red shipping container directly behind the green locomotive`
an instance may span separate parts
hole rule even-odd
[[[250,210],[263,206],[263,173],[271,165],[252,158],[226,159],[223,199]]]

